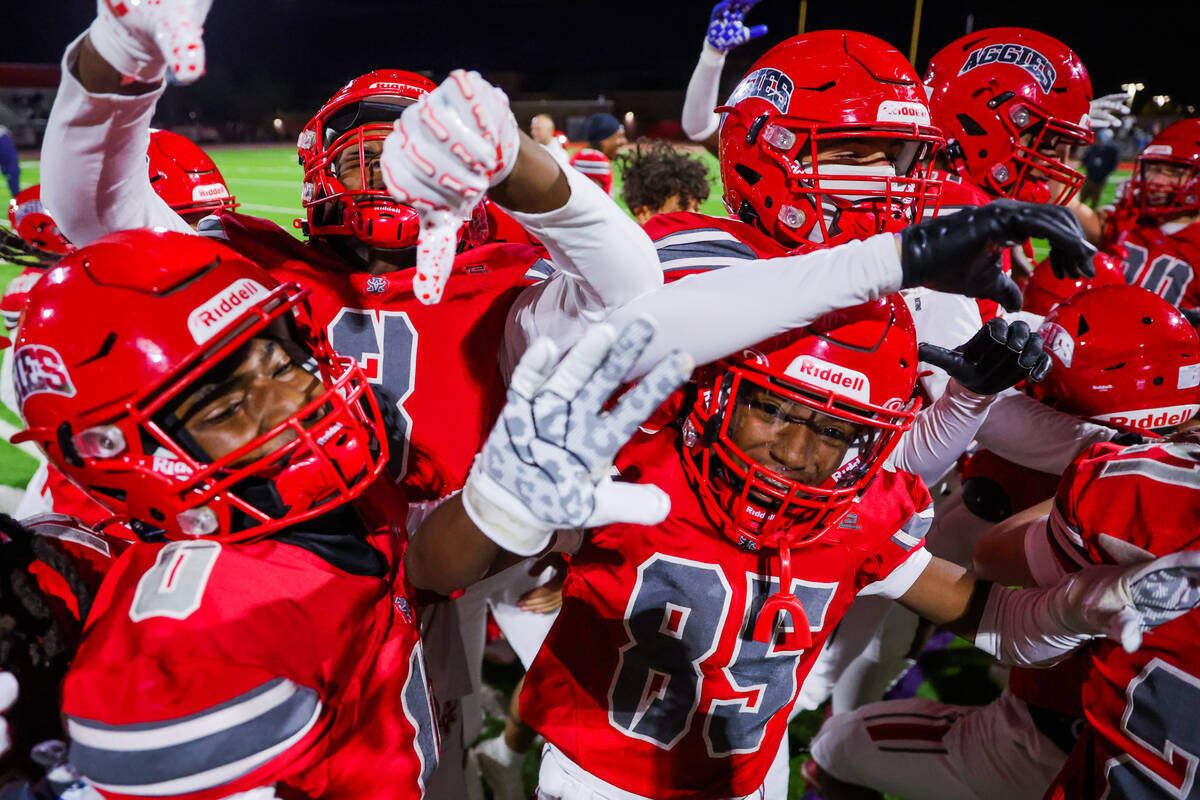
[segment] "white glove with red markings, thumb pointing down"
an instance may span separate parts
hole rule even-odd
[[[520,145],[508,96],[478,72],[455,70],[396,120],[380,164],[391,196],[421,217],[413,278],[421,302],[442,299],[458,228],[512,172]]]

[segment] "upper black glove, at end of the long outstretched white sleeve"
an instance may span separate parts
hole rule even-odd
[[[900,234],[904,288],[929,287],[1021,307],[1021,290],[1001,270],[1004,248],[1028,237],[1050,240],[1050,267],[1058,277],[1092,277],[1096,248],[1075,215],[1061,205],[992,200],[908,225]]]

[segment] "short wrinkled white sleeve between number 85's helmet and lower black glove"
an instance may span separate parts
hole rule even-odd
[[[942,396],[917,414],[889,462],[932,486],[966,452],[994,399],[994,395],[977,395],[949,381]]]

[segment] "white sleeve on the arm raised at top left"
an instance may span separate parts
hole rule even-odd
[[[62,79],[42,140],[42,201],[76,247],[126,228],[192,233],[154,187],[146,169],[150,120],[163,89],[145,95],[92,95],[71,74]]]

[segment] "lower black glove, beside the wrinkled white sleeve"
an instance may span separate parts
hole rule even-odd
[[[1022,380],[1042,380],[1050,372],[1042,337],[1020,320],[1009,325],[998,317],[989,319],[966,344],[953,350],[922,344],[917,356],[977,395],[995,395]]]

